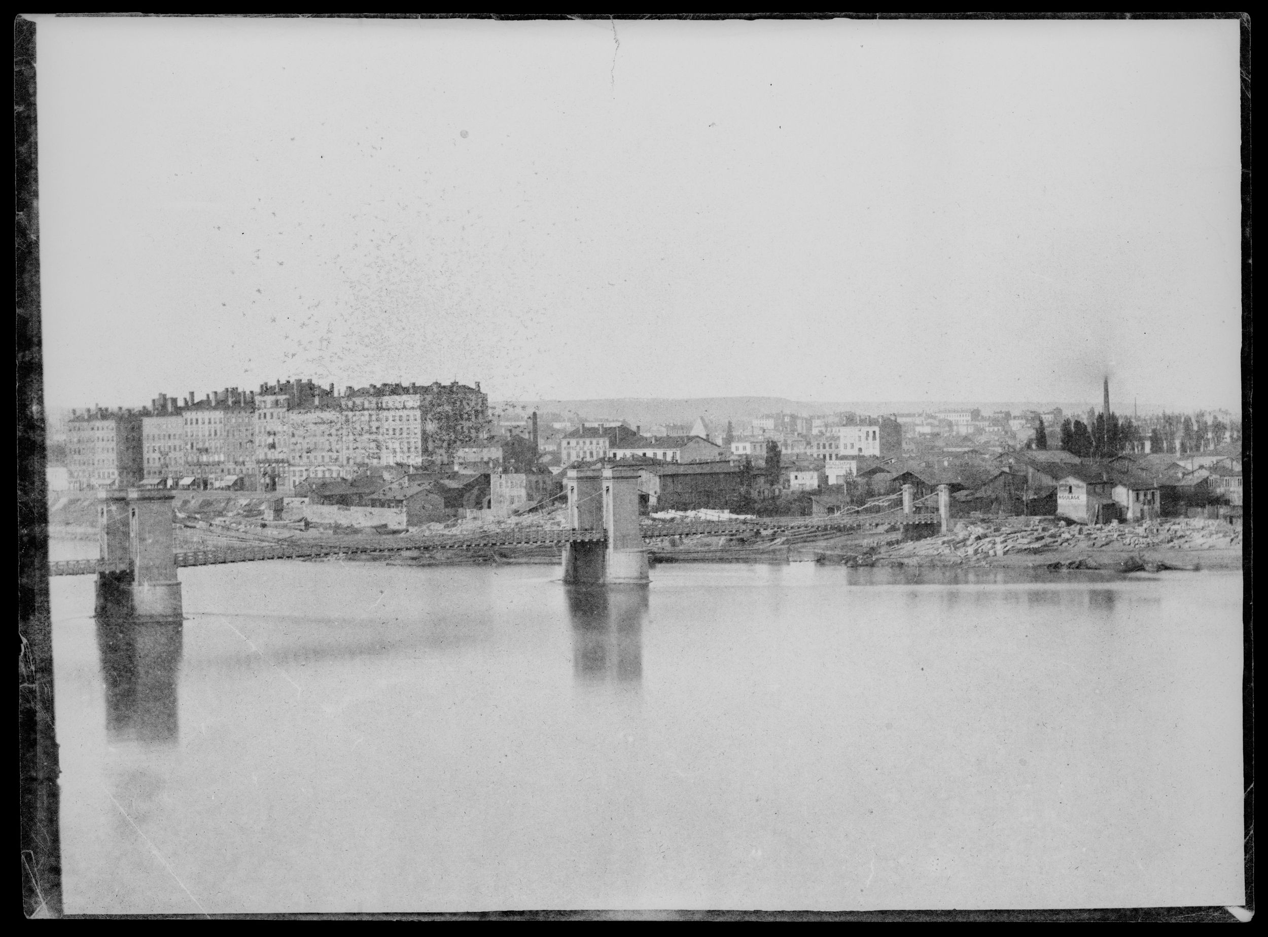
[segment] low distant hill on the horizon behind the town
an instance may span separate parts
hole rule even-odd
[[[538,401],[491,401],[491,408],[498,411],[534,410],[543,413],[562,413],[566,417],[586,420],[624,420],[629,423],[692,423],[696,417],[725,425],[728,420],[752,420],[765,413],[799,413],[801,416],[824,416],[839,411],[853,411],[866,416],[886,413],[919,413],[936,410],[976,408],[985,412],[994,410],[1051,410],[1060,407],[1069,413],[1083,413],[1099,403],[1047,402],[1047,401],[792,401],[786,397],[611,397],[596,399],[538,399]]]

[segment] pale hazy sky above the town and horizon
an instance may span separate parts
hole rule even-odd
[[[1239,407],[1236,20],[33,19],[52,404]]]

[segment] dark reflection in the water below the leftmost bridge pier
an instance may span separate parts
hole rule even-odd
[[[112,744],[126,740],[176,743],[180,735],[176,677],[181,643],[179,621],[98,617],[105,734]]]

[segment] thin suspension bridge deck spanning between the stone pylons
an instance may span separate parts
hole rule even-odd
[[[758,517],[734,521],[678,521],[671,524],[644,522],[643,539],[668,536],[725,536],[735,534],[779,533],[795,530],[836,529],[848,530],[875,525],[937,524],[937,512],[917,511],[904,515],[902,510],[879,514],[834,515],[831,517]],[[543,530],[520,529],[476,536],[420,536],[392,538],[363,544],[278,544],[260,546],[233,546],[223,550],[183,550],[176,553],[178,567],[216,565],[221,563],[251,563],[266,559],[316,559],[370,553],[407,553],[412,550],[472,550],[495,546],[540,546],[567,543],[601,543],[607,539],[602,530]],[[100,572],[123,572],[127,563],[103,563],[99,559],[53,560],[49,576],[91,576]]]

